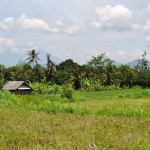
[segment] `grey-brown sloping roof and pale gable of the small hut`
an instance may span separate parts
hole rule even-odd
[[[24,81],[9,81],[7,84],[3,87],[4,90],[17,90],[17,89],[31,89],[28,87]]]

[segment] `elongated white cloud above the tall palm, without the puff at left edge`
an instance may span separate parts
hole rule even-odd
[[[67,33],[69,35],[77,34],[80,31],[78,24],[73,24],[72,22],[63,18],[54,22],[47,23],[42,19],[29,18],[25,14],[22,14],[17,19],[17,22],[23,29],[26,30],[41,30],[52,33],[62,32]]]

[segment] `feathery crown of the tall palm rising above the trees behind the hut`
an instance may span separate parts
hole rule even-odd
[[[37,64],[38,60],[40,60],[38,58],[38,54],[39,54],[39,52],[36,53],[35,49],[29,50],[27,53],[27,55],[29,56],[29,58],[27,58],[28,63],[30,63],[30,64],[32,63],[33,68],[35,66],[35,63]]]

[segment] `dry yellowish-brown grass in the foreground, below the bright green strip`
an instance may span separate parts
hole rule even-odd
[[[0,149],[150,149],[150,119],[0,110]]]

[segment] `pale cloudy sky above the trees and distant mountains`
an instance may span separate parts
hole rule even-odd
[[[80,64],[101,53],[126,63],[144,50],[150,60],[150,0],[1,0],[0,55],[31,49]]]

